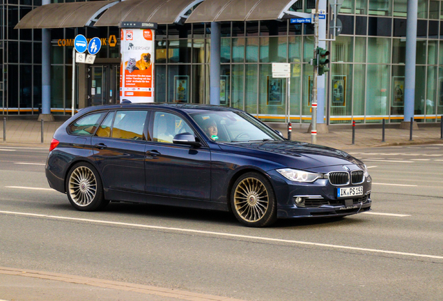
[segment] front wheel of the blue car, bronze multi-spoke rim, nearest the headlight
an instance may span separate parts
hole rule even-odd
[[[231,206],[235,217],[246,226],[270,226],[277,220],[274,190],[261,173],[245,173],[235,181]]]

